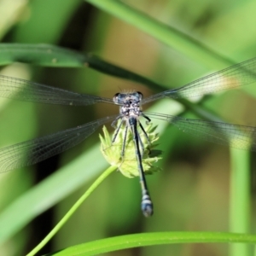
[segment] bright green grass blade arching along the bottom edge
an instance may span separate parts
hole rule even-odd
[[[77,246],[68,247],[57,253],[49,253],[45,256],[97,255],[100,253],[114,252],[133,247],[209,242],[245,242],[255,244],[256,236],[220,232],[148,232],[143,234],[116,236],[97,241],[90,241]]]

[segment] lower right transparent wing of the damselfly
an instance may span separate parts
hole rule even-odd
[[[168,123],[177,126],[179,130],[209,142],[256,151],[256,127],[200,119],[184,119],[161,113],[145,114],[149,118],[166,120]]]

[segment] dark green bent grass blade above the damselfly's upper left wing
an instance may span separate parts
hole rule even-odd
[[[121,79],[147,84],[154,90],[165,88],[164,85],[154,83],[137,73],[115,66],[91,53],[81,54],[51,44],[0,44],[0,65],[8,65],[15,61],[41,67],[90,67]]]

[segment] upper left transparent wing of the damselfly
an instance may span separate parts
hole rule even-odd
[[[25,102],[60,105],[90,105],[96,102],[112,103],[112,99],[79,94],[49,85],[0,75],[0,96]]]

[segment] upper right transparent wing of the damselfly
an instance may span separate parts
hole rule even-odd
[[[256,82],[256,58],[212,73],[183,87],[149,96],[143,100],[143,103],[153,102],[162,97],[191,98],[204,96],[219,90],[228,90],[254,82]]]

